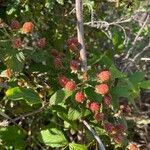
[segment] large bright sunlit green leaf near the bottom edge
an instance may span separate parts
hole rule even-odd
[[[50,147],[63,147],[68,145],[68,141],[63,132],[56,128],[42,130],[38,139],[41,143]]]

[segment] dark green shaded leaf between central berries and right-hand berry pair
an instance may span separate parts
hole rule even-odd
[[[93,89],[91,87],[88,87],[85,89],[85,94],[88,97],[88,99],[90,99],[90,100],[94,100],[99,103],[101,103],[101,101],[102,101],[102,96],[100,94],[97,94],[95,92],[95,89]]]

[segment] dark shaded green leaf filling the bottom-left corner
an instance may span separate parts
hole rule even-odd
[[[26,149],[26,134],[23,130],[16,126],[8,126],[0,128],[0,140],[6,149],[13,147],[15,150]],[[1,145],[0,143],[0,145]]]

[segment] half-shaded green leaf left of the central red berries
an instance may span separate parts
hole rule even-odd
[[[71,91],[64,89],[56,91],[50,98],[50,105],[57,105],[64,102],[68,97],[72,95]]]

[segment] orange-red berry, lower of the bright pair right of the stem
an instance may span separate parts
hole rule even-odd
[[[100,84],[100,85],[97,85],[97,86],[95,87],[95,91],[96,91],[96,93],[98,93],[98,94],[105,95],[105,94],[108,93],[109,87],[108,87],[107,84]]]

